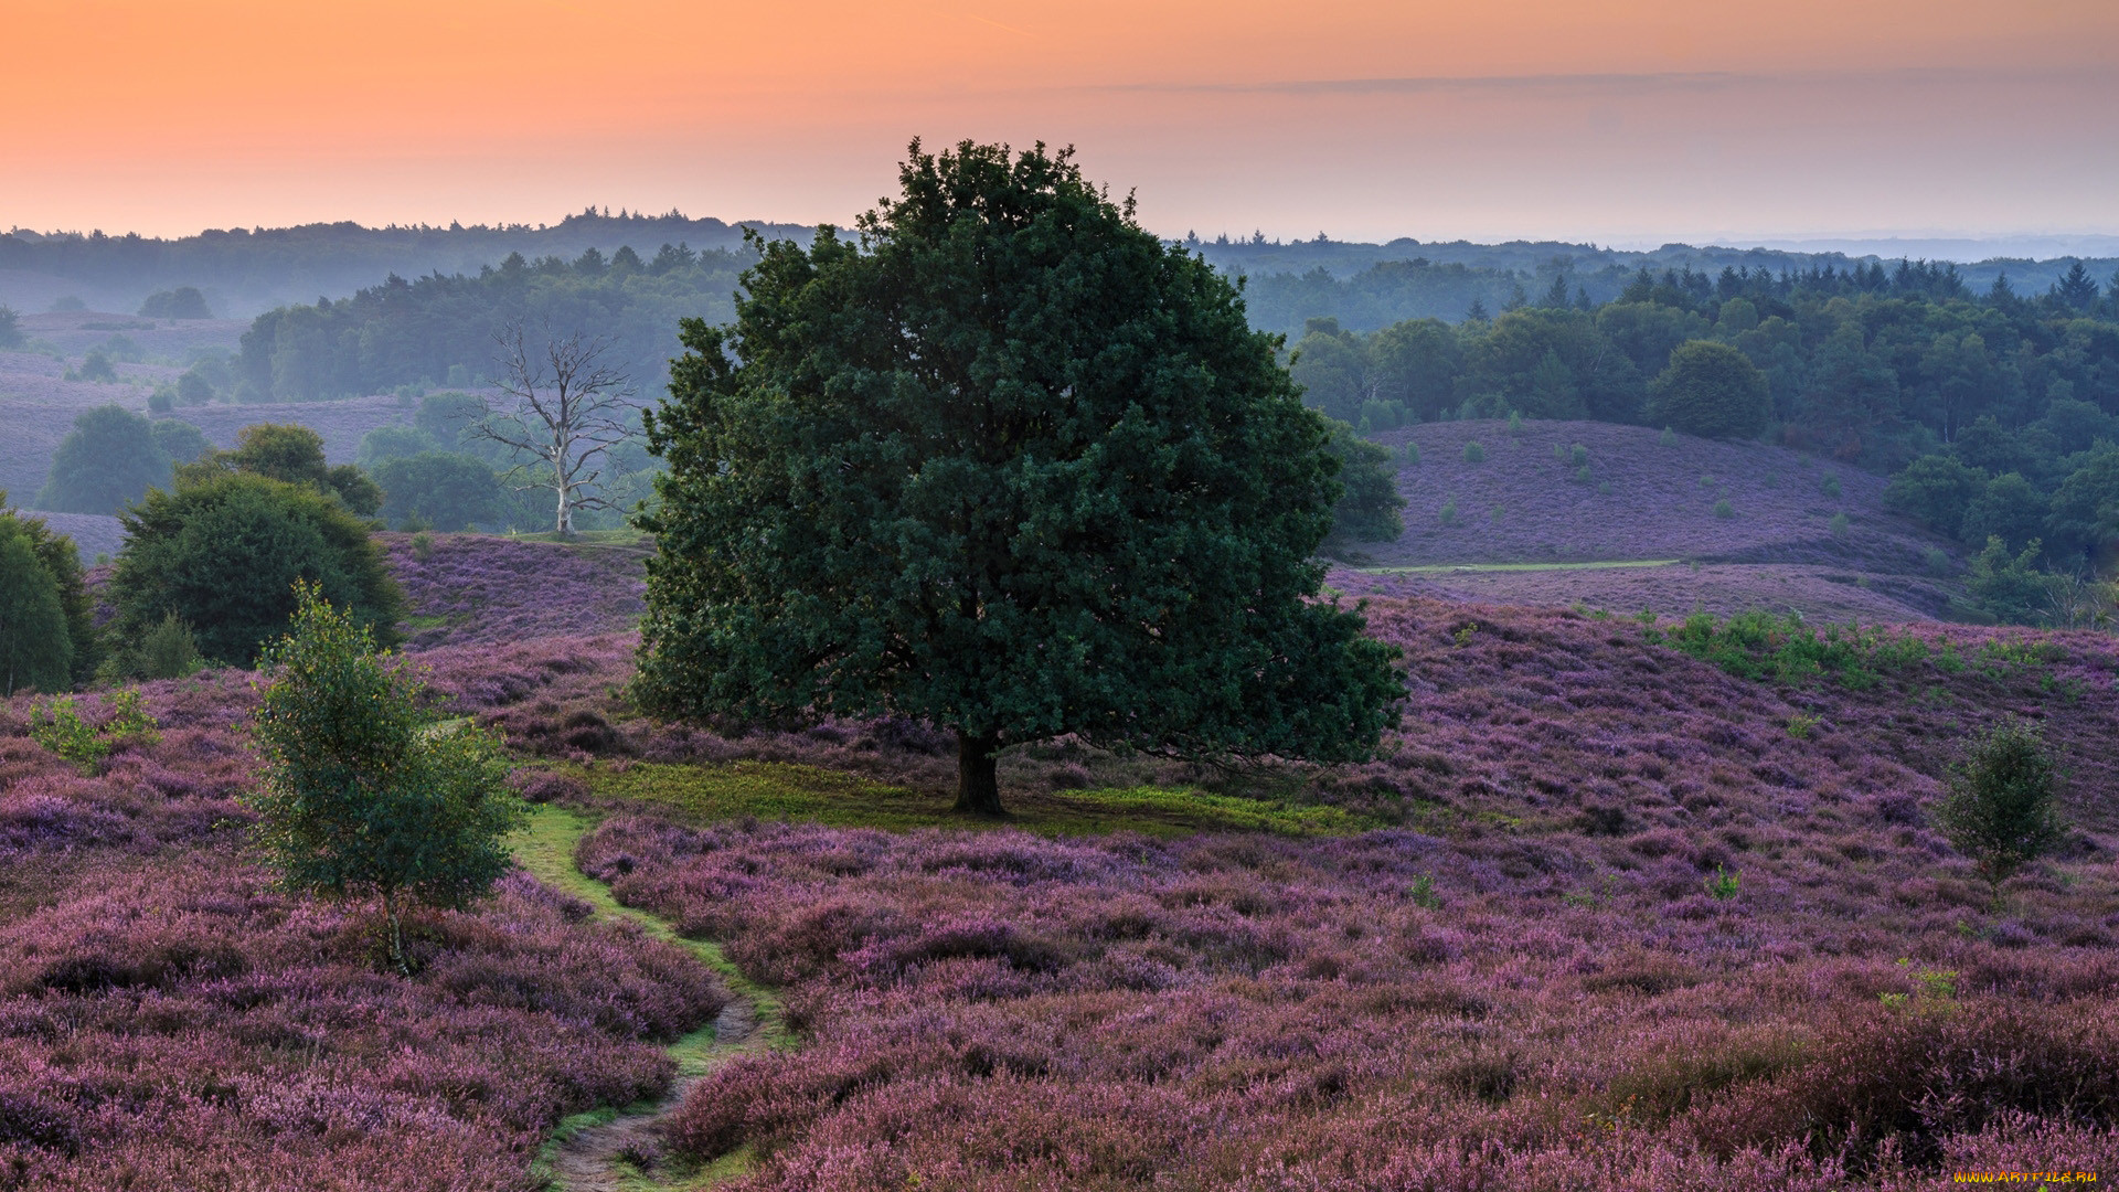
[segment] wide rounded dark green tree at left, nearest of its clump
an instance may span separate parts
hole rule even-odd
[[[123,520],[125,549],[110,575],[123,641],[176,613],[201,655],[248,666],[286,630],[297,579],[377,641],[396,641],[396,581],[367,526],[316,488],[229,473],[155,490]]]

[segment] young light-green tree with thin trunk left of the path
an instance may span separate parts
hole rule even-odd
[[[390,965],[411,971],[409,904],[464,908],[513,867],[523,821],[506,764],[470,725],[434,723],[422,685],[311,583],[292,632],[267,647],[254,732],[265,774],[244,804],[288,889],[377,897]]]

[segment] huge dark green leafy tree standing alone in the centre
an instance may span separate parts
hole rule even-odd
[[[1068,732],[1367,755],[1401,679],[1312,600],[1335,462],[1235,288],[1068,153],[915,142],[901,182],[684,325],[642,702],[922,717],[973,812],[996,749]]]

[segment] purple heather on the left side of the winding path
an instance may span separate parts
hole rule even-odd
[[[727,999],[689,952],[517,874],[415,916],[403,980],[379,912],[275,891],[248,681],[142,685],[161,740],[93,776],[0,704],[0,1186],[519,1190],[562,1116],[667,1088]]]

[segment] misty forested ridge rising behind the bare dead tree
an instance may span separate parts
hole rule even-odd
[[[733,316],[735,280],[754,255],[663,244],[642,259],[589,248],[572,261],[519,252],[477,274],[390,276],[350,299],[261,314],[235,361],[239,401],[314,401],[398,386],[468,386],[494,371],[494,335],[521,320],[532,337],[585,331],[610,339],[608,361],[655,395],[678,320]]]

